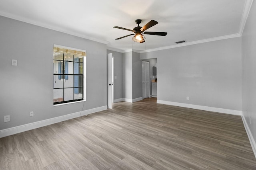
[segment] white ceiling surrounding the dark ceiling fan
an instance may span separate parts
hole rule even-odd
[[[242,34],[252,0],[1,0],[0,15],[62,31],[101,43],[108,49],[147,51],[238,37]],[[145,43],[132,36],[115,40],[150,20],[159,23],[147,31],[168,32],[145,35]],[[185,45],[185,43],[183,44]]]

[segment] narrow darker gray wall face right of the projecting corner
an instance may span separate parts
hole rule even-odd
[[[142,61],[140,54],[132,52],[132,99],[142,97]]]

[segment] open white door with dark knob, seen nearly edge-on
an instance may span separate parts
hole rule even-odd
[[[112,109],[112,86],[113,86],[113,81],[112,81],[112,53],[108,54],[107,58],[107,63],[108,63],[108,108]]]

